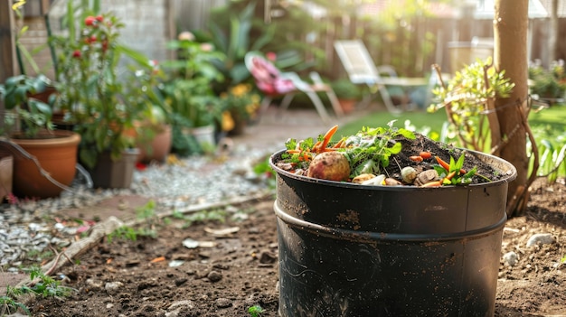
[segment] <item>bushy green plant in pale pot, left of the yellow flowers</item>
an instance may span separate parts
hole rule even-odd
[[[223,58],[212,44],[194,40],[193,33],[180,33],[168,43],[177,58],[165,61],[168,79],[163,85],[165,107],[173,125],[173,150],[178,154],[201,154],[214,142],[215,126],[221,121],[220,99],[212,90],[223,80],[212,60]]]

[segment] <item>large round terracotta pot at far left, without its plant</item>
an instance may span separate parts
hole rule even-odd
[[[75,177],[77,148],[80,135],[64,130],[43,131],[37,138],[12,135],[12,141],[32,155],[56,182],[71,185]],[[27,198],[49,198],[59,196],[63,190],[42,175],[32,159],[14,151],[14,195]]]

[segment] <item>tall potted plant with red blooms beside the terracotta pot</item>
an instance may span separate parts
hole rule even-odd
[[[70,2],[67,22],[68,34],[50,38],[56,51],[55,105],[82,137],[80,163],[90,171],[95,186],[127,188],[139,151],[135,139],[124,132],[134,128],[146,104],[128,104],[118,61],[123,55],[138,63],[148,60],[119,44],[124,24],[113,14],[83,7],[76,22]]]

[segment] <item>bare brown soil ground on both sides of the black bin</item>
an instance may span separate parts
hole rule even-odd
[[[501,262],[495,316],[566,316],[565,198],[563,180],[539,180],[525,215],[507,221],[502,256],[514,251],[519,261]],[[254,201],[228,212],[225,222],[188,228],[175,220],[158,227],[156,238],[102,239],[59,272],[76,293],[26,304],[33,316],[53,317],[250,316],[254,305],[264,309],[261,316],[278,316],[272,205],[272,199]],[[247,217],[232,217],[241,211]],[[551,233],[556,242],[526,247],[535,233]]]

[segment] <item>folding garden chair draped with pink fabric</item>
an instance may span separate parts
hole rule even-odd
[[[275,65],[267,61],[259,52],[250,51],[245,56],[246,67],[251,76],[255,79],[256,86],[264,94],[261,100],[259,113],[262,114],[269,107],[273,98],[283,96],[281,101],[281,111],[288,109],[291,100],[299,92],[307,94],[313,105],[316,107],[318,115],[323,121],[329,122],[330,117],[325,105],[318,98],[317,92],[325,92],[334,108],[336,116],[344,115],[342,107],[336,98],[334,90],[325,84],[316,72],[311,72],[310,77],[314,84],[307,83],[299,78],[295,72],[281,72]]]

